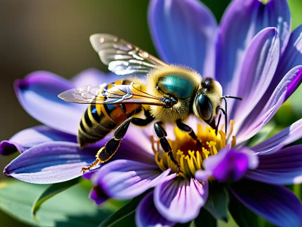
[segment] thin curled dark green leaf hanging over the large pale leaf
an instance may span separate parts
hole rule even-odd
[[[52,184],[50,185],[34,202],[32,208],[31,208],[31,214],[32,216],[37,219],[36,213],[40,209],[40,206],[43,202],[45,202],[47,199],[50,199],[51,197],[55,196],[56,194],[65,191],[66,189],[69,189],[72,186],[75,186],[76,184],[80,183],[81,178],[75,178],[69,181]]]

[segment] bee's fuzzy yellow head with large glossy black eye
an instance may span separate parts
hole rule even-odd
[[[221,104],[222,87],[212,78],[203,78],[193,102],[195,116],[206,122],[217,115],[217,107]]]

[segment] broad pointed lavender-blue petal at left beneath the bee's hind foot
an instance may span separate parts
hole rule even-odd
[[[34,146],[11,161],[4,174],[35,184],[52,184],[82,176],[82,167],[88,167],[98,149],[79,149],[78,144],[50,142]]]

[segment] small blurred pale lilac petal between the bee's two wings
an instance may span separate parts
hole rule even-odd
[[[105,73],[95,68],[86,69],[71,79],[74,87],[112,83],[123,77],[114,73]]]

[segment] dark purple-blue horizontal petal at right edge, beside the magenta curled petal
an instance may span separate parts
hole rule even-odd
[[[281,185],[302,183],[302,145],[260,155],[258,168],[247,172],[245,178]]]

